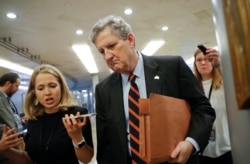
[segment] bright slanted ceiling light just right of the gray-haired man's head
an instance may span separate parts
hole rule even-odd
[[[165,43],[164,40],[155,40],[150,41],[146,47],[142,50],[142,53],[148,56],[153,55],[163,44]]]

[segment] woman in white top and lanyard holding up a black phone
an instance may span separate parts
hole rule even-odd
[[[232,164],[224,87],[219,55],[215,49],[207,48],[206,54],[199,49],[195,51],[194,74],[216,113],[209,144],[200,156],[200,162]]]

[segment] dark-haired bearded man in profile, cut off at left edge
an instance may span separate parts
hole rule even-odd
[[[3,133],[3,124],[9,128],[15,128],[17,131],[22,130],[17,109],[10,100],[10,97],[18,90],[20,83],[20,77],[16,73],[6,73],[0,77],[0,136]],[[6,160],[5,157],[0,155],[0,163],[4,163]]]

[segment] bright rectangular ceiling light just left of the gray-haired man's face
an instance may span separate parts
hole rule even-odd
[[[98,73],[94,57],[88,45],[73,45],[72,49],[90,74]]]

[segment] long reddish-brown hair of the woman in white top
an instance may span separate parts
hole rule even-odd
[[[193,67],[193,71],[194,71],[194,75],[196,76],[198,82],[200,83],[200,85],[202,86],[202,76],[200,74],[200,72],[197,69],[196,66],[196,56],[202,53],[201,50],[197,49],[194,53],[194,67]],[[212,79],[213,79],[213,89],[218,89],[223,85],[223,79],[221,76],[221,71],[218,67],[213,67],[212,69]]]

